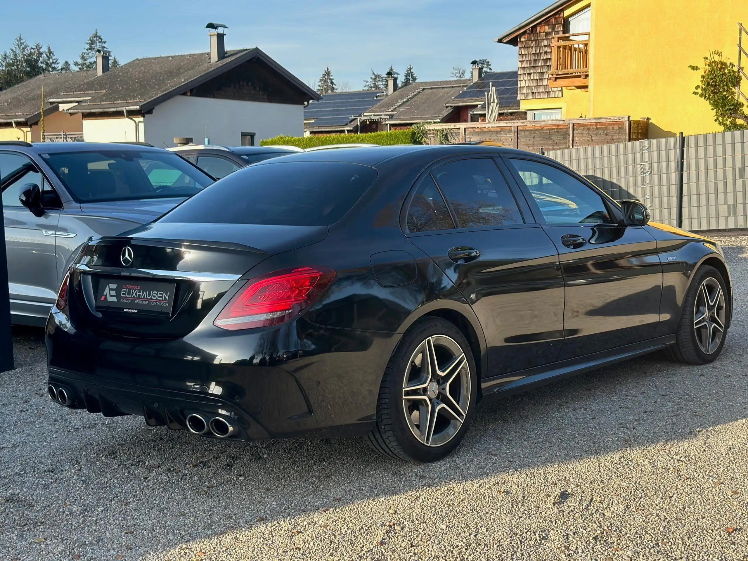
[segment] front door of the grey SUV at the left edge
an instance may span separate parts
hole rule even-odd
[[[37,217],[22,206],[19,194],[36,183],[49,209]],[[55,258],[55,235],[60,219],[54,191],[28,156],[0,152],[0,185],[5,222],[8,288],[13,322],[43,324],[55,303],[60,283]]]

